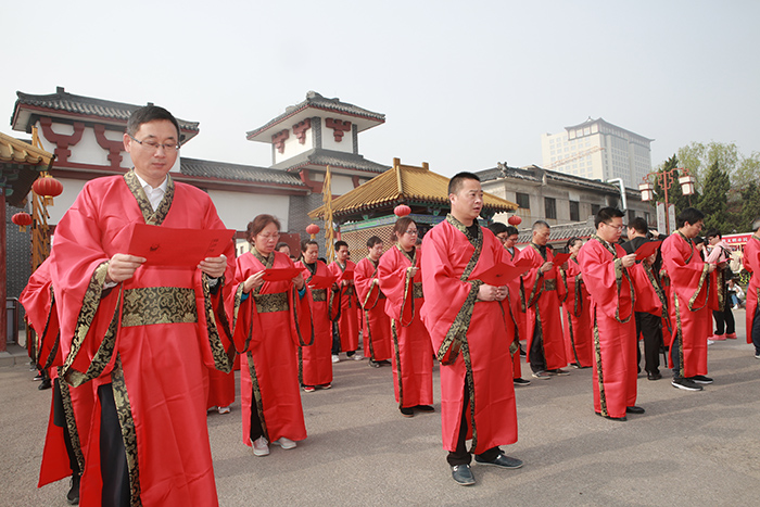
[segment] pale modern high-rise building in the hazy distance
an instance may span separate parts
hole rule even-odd
[[[546,169],[601,181],[621,178],[625,187],[638,188],[651,170],[651,141],[588,117],[559,134],[543,134],[541,152]]]

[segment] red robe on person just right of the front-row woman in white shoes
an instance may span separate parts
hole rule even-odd
[[[306,284],[312,277],[327,277],[327,265],[317,261],[308,266],[299,261],[296,267],[303,268]],[[314,271],[312,271],[314,269]],[[327,385],[332,382],[332,322],[327,309],[330,289],[311,289],[312,319],[314,320],[314,343],[311,346],[299,344],[299,380],[302,385]],[[333,300],[333,309],[338,314],[338,299]]]

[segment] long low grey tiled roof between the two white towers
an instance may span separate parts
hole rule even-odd
[[[181,157],[179,162],[180,173],[187,176],[306,188],[299,175],[282,170],[187,157]]]

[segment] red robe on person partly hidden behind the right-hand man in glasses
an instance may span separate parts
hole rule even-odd
[[[594,365],[593,320],[591,296],[583,282],[581,266],[574,258],[568,259],[568,269],[559,269],[566,286],[566,299],[562,302],[565,318],[565,354],[570,362],[582,367]]]

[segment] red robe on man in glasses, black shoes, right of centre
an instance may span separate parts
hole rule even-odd
[[[635,288],[619,257],[625,251],[593,236],[578,263],[592,300],[594,329],[594,410],[624,417],[636,404]]]

